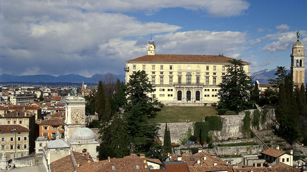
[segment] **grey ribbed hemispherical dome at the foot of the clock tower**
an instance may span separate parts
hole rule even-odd
[[[81,144],[91,143],[94,140],[96,140],[94,132],[86,127],[77,128],[72,132],[72,135],[70,135],[69,138],[70,142],[77,142]]]

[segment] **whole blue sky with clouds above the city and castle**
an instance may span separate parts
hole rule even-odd
[[[124,74],[147,54],[224,55],[251,73],[290,67],[296,32],[307,46],[307,1],[0,1],[0,74]]]

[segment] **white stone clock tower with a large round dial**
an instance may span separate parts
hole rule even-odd
[[[85,125],[85,99],[79,96],[68,96],[65,100],[65,140],[69,140],[75,129]]]

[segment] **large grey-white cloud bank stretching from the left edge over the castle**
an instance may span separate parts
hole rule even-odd
[[[224,54],[247,49],[246,33],[191,31],[180,26],[141,22],[121,12],[182,7],[204,10],[213,17],[241,15],[249,3],[188,1],[2,1],[0,72],[27,75],[122,73],[124,61],[147,54],[152,31],[157,54]],[[106,12],[111,11],[111,12]]]

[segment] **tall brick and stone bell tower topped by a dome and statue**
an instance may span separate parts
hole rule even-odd
[[[299,88],[305,84],[305,56],[304,44],[299,40],[300,32],[297,32],[297,41],[292,46],[291,57],[291,78]]]

